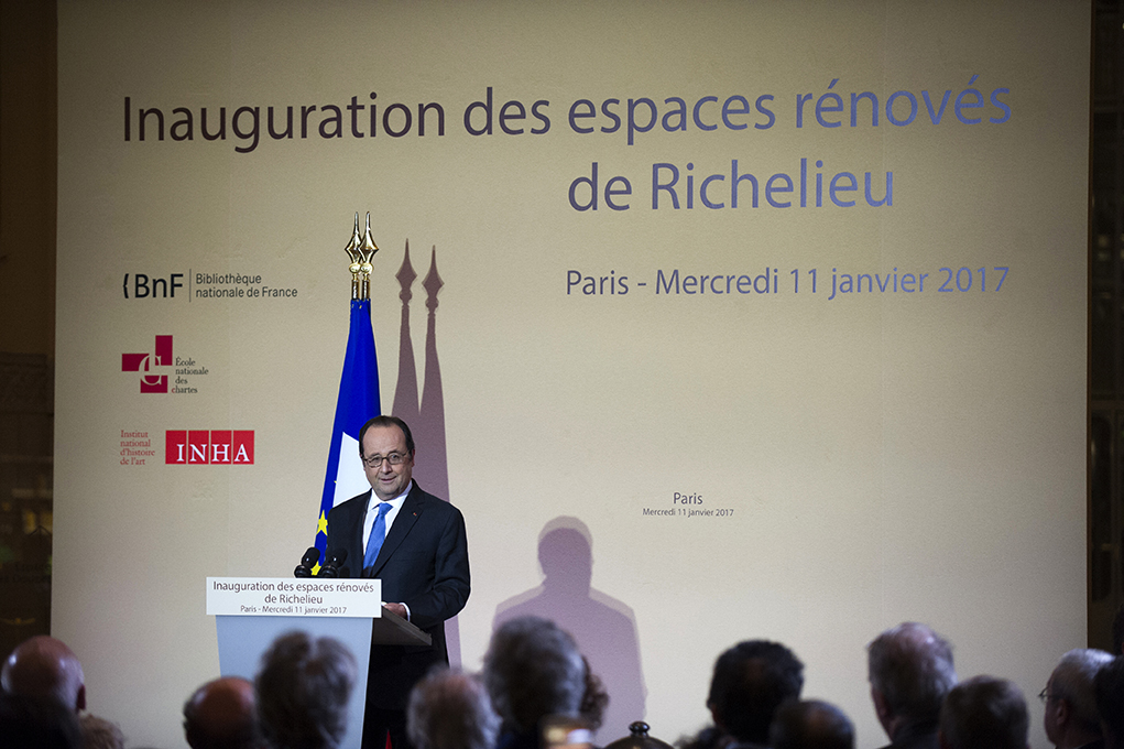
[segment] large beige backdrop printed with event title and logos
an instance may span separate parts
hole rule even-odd
[[[1085,641],[1088,39],[1060,0],[60,2],[91,710],[175,745],[205,578],[311,544],[356,211],[383,410],[468,523],[454,660],[559,620],[601,743],[701,728],[768,638],[880,746],[904,620],[1036,694]]]

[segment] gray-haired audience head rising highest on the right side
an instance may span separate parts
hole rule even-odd
[[[935,722],[941,703],[957,685],[952,646],[925,624],[903,622],[867,646],[870,685],[890,714],[909,722]]]

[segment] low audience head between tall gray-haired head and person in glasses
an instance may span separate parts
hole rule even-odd
[[[941,736],[949,749],[1026,749],[1028,729],[1023,693],[1007,679],[961,682],[941,709]]]

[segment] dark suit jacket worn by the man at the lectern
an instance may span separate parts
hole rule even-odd
[[[328,513],[328,551],[347,550],[345,570],[363,577],[363,517],[371,493]],[[341,575],[344,577],[344,575]],[[469,599],[469,545],[461,511],[415,481],[398,511],[369,577],[382,580],[382,599],[404,603],[410,622],[433,638],[430,646],[372,646],[368,703],[405,710],[413,686],[434,664],[448,662],[445,620]]]

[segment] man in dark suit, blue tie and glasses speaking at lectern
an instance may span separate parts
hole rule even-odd
[[[372,646],[368,675],[364,749],[409,749],[406,705],[413,686],[447,664],[445,620],[469,598],[464,517],[411,479],[414,437],[393,416],[377,416],[360,431],[360,457],[371,491],[328,513],[328,552],[347,550],[351,577],[382,580],[387,608],[433,638],[432,646]]]

